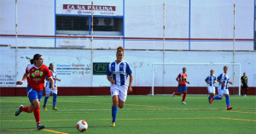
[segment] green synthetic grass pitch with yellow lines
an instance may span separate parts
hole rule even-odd
[[[43,111],[36,130],[33,114],[15,111],[26,97],[0,98],[0,133],[80,133],[75,126],[79,120],[89,124],[85,133],[255,133],[256,97],[230,96],[232,110],[226,110],[225,98],[207,102],[207,95],[188,95],[186,105],[182,97],[170,95],[128,96],[124,109],[118,109],[116,127],[110,127],[112,99],[110,96],[58,97],[57,108],[51,110],[52,97]]]

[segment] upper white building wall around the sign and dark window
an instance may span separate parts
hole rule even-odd
[[[56,14],[65,14],[61,10],[63,3],[84,5],[90,2],[90,0],[18,1],[19,37],[16,40],[15,0],[1,0],[0,44],[16,46],[17,42],[18,47],[61,47],[65,44],[74,47],[91,47],[88,45],[90,35],[74,38],[70,38],[71,35],[55,36],[55,10]],[[254,49],[253,0],[190,0],[190,2],[189,6],[189,0],[95,1],[95,5],[116,6],[116,12],[113,15],[124,16],[125,35],[103,36],[104,38],[93,40],[95,42],[93,44],[96,44],[93,47],[113,48],[123,45],[125,48],[134,49],[232,50],[233,10],[234,3],[236,3],[235,49]],[[163,3],[166,5],[166,18],[163,14]],[[164,20],[165,31],[163,30]],[[163,43],[164,33],[165,43]],[[189,36],[191,37],[190,43]]]

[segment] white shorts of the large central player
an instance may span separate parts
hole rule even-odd
[[[118,95],[119,99],[125,102],[127,98],[127,90],[128,87],[113,84],[110,86],[111,98],[113,98],[115,95]]]

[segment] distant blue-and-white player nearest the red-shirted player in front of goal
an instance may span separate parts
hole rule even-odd
[[[214,70],[210,70],[210,75],[207,76],[207,79],[205,80],[207,82],[207,89],[209,93],[209,103],[211,103],[211,98],[215,95],[215,83],[216,83],[216,76],[213,75]]]

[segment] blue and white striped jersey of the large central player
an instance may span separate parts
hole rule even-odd
[[[113,63],[108,65],[108,70],[106,72],[106,75],[110,75],[111,78],[115,81],[114,84],[120,86],[128,86],[127,77],[131,74],[132,72],[130,66],[126,61],[122,61],[119,64],[113,61]]]

